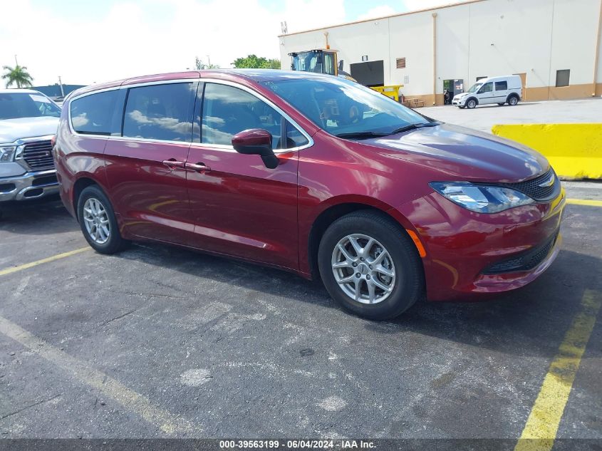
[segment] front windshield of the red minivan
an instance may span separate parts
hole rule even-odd
[[[291,77],[262,84],[318,127],[337,136],[369,138],[398,133],[406,127],[434,125],[395,100],[343,78]]]

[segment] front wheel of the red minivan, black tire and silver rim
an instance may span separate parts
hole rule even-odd
[[[333,222],[318,248],[318,268],[337,304],[364,318],[395,318],[424,294],[415,244],[378,212],[361,210]]]

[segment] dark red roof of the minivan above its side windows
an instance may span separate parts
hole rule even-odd
[[[209,69],[202,71],[185,71],[156,73],[153,75],[123,78],[122,80],[110,81],[108,83],[98,83],[85,86],[73,91],[69,97],[90,93],[96,90],[116,88],[123,85],[134,85],[139,83],[152,83],[156,81],[182,80],[186,78],[222,78],[222,79],[246,79],[248,81],[276,81],[290,78],[329,78],[331,76],[322,73],[300,72],[300,71],[281,71],[280,69]]]

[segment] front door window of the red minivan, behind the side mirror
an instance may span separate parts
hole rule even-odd
[[[204,90],[201,141],[232,145],[232,136],[249,128],[263,128],[272,135],[272,147],[281,145],[282,116],[245,90],[207,83]]]

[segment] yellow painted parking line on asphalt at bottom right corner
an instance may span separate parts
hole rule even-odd
[[[585,291],[581,311],[564,335],[514,451],[549,451],[554,446],[564,407],[601,304],[600,293]]]

